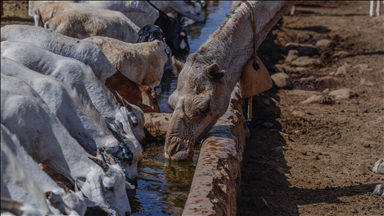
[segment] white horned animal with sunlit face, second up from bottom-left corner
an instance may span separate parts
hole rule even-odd
[[[17,122],[17,124],[15,124]],[[1,74],[1,123],[37,163],[45,163],[104,211],[131,212],[124,171],[106,153],[88,154],[63,127],[38,93],[24,81]],[[110,163],[105,162],[107,159]]]

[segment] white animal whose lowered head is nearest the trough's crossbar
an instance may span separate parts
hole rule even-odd
[[[127,105],[128,110],[125,107],[121,107],[112,92],[97,79],[92,69],[75,59],[56,55],[30,43],[13,41],[1,42],[1,53],[3,56],[33,71],[54,76],[75,88],[81,98],[86,101],[92,101],[92,104],[106,117],[107,122],[112,128],[114,128],[113,125],[121,127],[120,131],[124,131],[123,135],[125,137],[123,142],[133,152],[132,163],[124,167],[125,173],[130,180],[137,177],[137,163],[142,158],[143,152],[138,140],[142,143],[145,140],[143,130],[144,117],[138,107],[131,104]],[[128,118],[125,119],[123,124],[120,124],[118,121],[115,123],[116,113],[125,111],[128,112],[124,116]],[[121,116],[121,118],[124,118],[124,116]],[[131,131],[131,133],[125,131]]]

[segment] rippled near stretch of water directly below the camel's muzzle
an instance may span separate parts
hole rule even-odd
[[[146,146],[138,171],[138,188],[129,192],[133,215],[181,215],[192,183],[198,150],[189,161],[171,162],[164,145]]]

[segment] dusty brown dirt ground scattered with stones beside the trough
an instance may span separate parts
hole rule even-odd
[[[238,215],[384,215],[372,194],[384,176],[371,171],[384,157],[384,15],[368,11],[368,1],[300,3],[261,46],[270,73],[293,85],[254,97]],[[33,25],[26,1],[4,2],[1,26],[15,23]],[[321,39],[299,53],[318,61],[285,61],[287,43]],[[345,99],[328,95],[338,89]]]

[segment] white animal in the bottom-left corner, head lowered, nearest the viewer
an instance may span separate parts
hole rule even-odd
[[[10,198],[28,203],[37,201],[39,198],[30,199],[25,194],[31,193],[31,196],[38,196],[39,193],[46,194],[53,213],[85,214],[87,205],[81,192],[74,193],[65,185],[64,188],[57,185],[40,169],[39,165],[25,152],[17,138],[4,125],[1,125],[1,150],[2,158],[5,157],[8,162],[2,163],[2,178],[5,178],[7,182],[6,189],[11,195]],[[13,169],[13,172],[10,169]],[[18,184],[17,182],[21,183]],[[28,185],[37,185],[38,188],[29,188]]]

